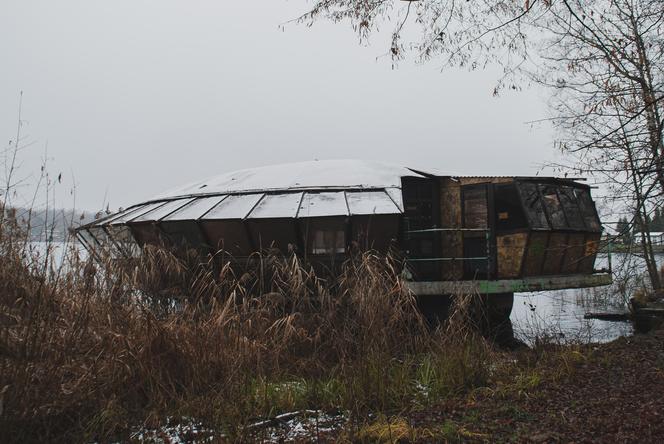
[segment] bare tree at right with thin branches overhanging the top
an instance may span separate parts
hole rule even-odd
[[[662,287],[646,221],[664,200],[664,0],[319,0],[300,21],[321,18],[349,21],[363,39],[391,23],[394,60],[497,63],[496,92],[525,79],[549,87],[569,159],[558,166],[607,185]]]

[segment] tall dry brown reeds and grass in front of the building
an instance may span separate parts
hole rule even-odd
[[[489,348],[431,331],[389,258],[323,279],[293,257],[145,248],[59,266],[0,227],[0,441],[128,440],[193,417],[228,440],[289,409],[402,411],[482,384]]]

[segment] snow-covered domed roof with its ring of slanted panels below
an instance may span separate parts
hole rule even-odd
[[[401,178],[424,174],[363,160],[250,168],[170,190],[89,225],[399,214]]]

